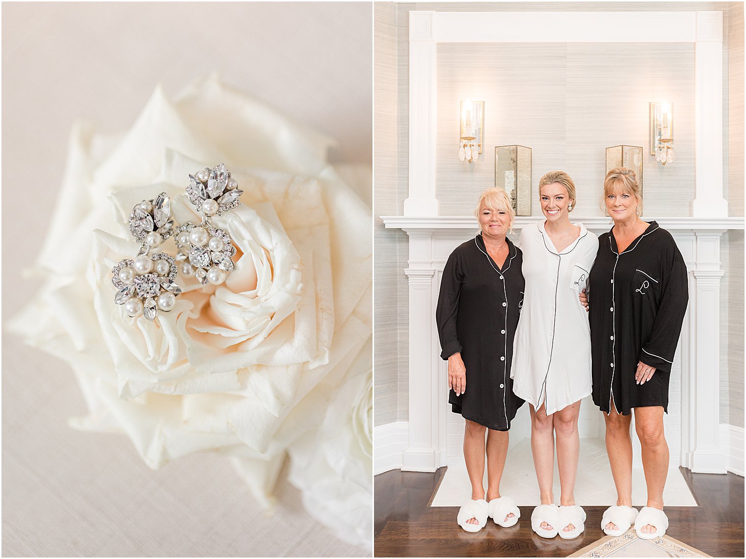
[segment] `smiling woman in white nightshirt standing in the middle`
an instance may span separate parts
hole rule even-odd
[[[586,513],[575,505],[580,454],[577,416],[591,394],[591,334],[578,299],[593,266],[598,239],[572,223],[575,184],[564,171],[539,181],[545,219],[521,231],[526,296],[515,333],[511,374],[515,395],[529,404],[531,451],[540,504],[531,528],[541,537],[570,540],[584,530]],[[560,506],[554,504],[554,446],[560,469]]]

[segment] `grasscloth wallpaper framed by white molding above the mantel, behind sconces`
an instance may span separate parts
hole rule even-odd
[[[495,146],[531,148],[531,213],[539,178],[563,169],[577,189],[574,216],[602,216],[605,148],[643,146],[646,216],[689,216],[695,196],[694,44],[443,44],[438,46],[436,193],[441,215],[464,216],[495,184]],[[660,60],[665,58],[666,63]],[[456,157],[461,99],[485,102],[483,159]],[[675,165],[656,164],[648,103],[674,103]],[[645,184],[651,185],[645,189]]]

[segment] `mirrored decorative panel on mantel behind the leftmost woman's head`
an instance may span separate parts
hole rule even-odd
[[[495,187],[508,193],[516,216],[531,215],[531,149],[495,147]]]

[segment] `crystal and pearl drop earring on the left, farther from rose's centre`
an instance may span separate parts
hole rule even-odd
[[[130,232],[141,243],[140,252],[134,259],[120,260],[111,269],[111,282],[118,290],[114,302],[124,305],[125,312],[133,318],[145,316],[152,322],[158,310],[172,310],[181,293],[174,281],[178,272],[174,257],[163,252],[150,254],[151,249],[172,236],[173,227],[171,199],[166,193],[132,208]]]

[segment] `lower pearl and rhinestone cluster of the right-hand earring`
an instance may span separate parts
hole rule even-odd
[[[235,268],[231,258],[236,255],[236,247],[222,229],[184,223],[175,230],[175,242],[181,273],[193,274],[201,284],[222,284]]]

